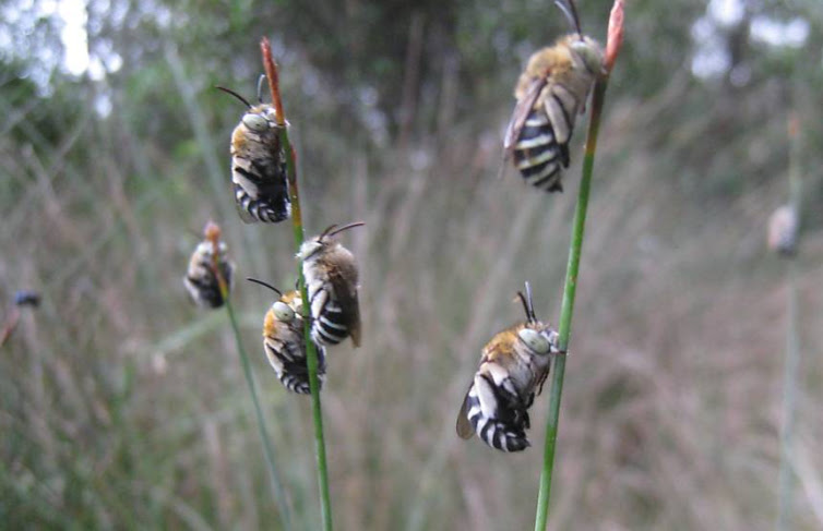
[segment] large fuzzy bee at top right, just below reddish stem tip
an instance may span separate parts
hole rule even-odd
[[[605,73],[603,49],[584,36],[571,0],[554,2],[565,13],[576,34],[561,37],[554,46],[536,51],[517,80],[517,104],[506,128],[505,158],[533,186],[562,192],[562,168],[569,167],[569,141],[574,120],[598,76]]]

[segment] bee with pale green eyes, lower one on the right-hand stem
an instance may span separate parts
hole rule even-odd
[[[542,391],[551,355],[559,352],[558,334],[537,321],[532,291],[517,292],[526,321],[491,338],[482,349],[480,367],[468,387],[457,413],[457,435],[475,433],[484,443],[502,451],[521,451],[530,446],[528,408],[535,393]]]

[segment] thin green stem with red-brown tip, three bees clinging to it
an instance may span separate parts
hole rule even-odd
[[[272,101],[277,111],[279,128],[281,146],[286,152],[286,170],[288,179],[288,192],[291,201],[291,224],[295,236],[295,249],[300,252],[302,245],[303,225],[302,213],[300,210],[300,196],[297,185],[297,160],[295,150],[288,138],[288,122],[283,110],[283,100],[281,99],[279,82],[277,69],[272,60],[272,50],[269,39],[263,38],[260,43],[263,52],[263,67],[265,68],[269,87],[272,93]],[[309,304],[309,294],[306,287],[306,278],[302,271],[302,260],[297,263],[297,281],[300,291],[303,317],[303,337],[306,339],[306,360],[309,369],[309,389],[311,391],[311,412],[314,421],[314,448],[318,464],[318,484],[320,487],[320,508],[323,521],[323,530],[332,531],[332,500],[329,490],[329,467],[326,464],[325,437],[323,435],[323,409],[320,402],[320,379],[318,378],[318,352],[314,348],[314,341],[311,340],[311,314]]]

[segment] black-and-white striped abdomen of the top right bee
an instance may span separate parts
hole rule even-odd
[[[532,109],[514,145],[514,164],[523,179],[548,192],[562,192],[562,167],[569,166],[569,146],[558,143],[554,128],[541,108]]]

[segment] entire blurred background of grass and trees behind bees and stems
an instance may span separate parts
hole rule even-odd
[[[544,318],[560,310],[580,170],[560,196],[496,179],[516,75],[568,29],[551,2],[88,0],[77,2],[90,55],[79,75],[65,56],[71,3],[0,4],[2,315],[17,289],[44,297],[0,349],[0,527],[275,528],[225,314],[195,311],[181,285],[211,217],[240,276],[294,282],[289,228],[234,213],[228,135],[242,109],[211,88],[252,96],[266,35],[308,232],[368,224],[345,237],[361,267],[363,347],[331,353],[323,391],[338,529],[529,529],[546,400],[534,408],[538,444],[521,455],[460,441],[454,419],[484,342],[520,317],[523,280]],[[610,4],[580,2],[587,33],[604,38]],[[550,527],[772,527],[786,264],[764,230],[787,198],[796,111],[790,522],[820,529],[823,8],[634,0],[625,38],[595,167]],[[234,300],[260,351],[270,293],[240,285]],[[309,401],[288,396],[260,353],[294,519],[315,529]]]

